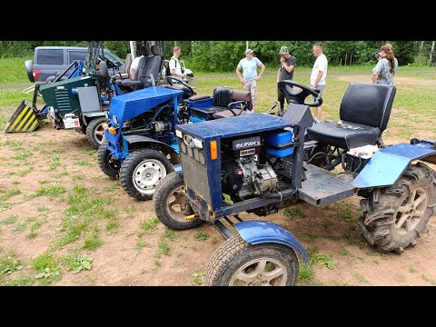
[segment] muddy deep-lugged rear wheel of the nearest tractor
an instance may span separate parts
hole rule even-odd
[[[427,230],[435,204],[436,173],[423,163],[412,164],[397,183],[361,200],[359,225],[379,251],[400,254]]]

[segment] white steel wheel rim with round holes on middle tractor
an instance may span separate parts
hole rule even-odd
[[[155,159],[146,159],[134,169],[134,187],[141,193],[152,194],[165,175],[163,163]]]

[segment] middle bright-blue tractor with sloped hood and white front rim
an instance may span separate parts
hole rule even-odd
[[[212,97],[195,95],[182,79],[167,79],[168,87],[114,97],[104,124],[100,169],[111,178],[119,176],[125,192],[138,200],[151,199],[156,185],[180,163],[177,125],[246,114],[251,105],[248,92],[222,87]]]

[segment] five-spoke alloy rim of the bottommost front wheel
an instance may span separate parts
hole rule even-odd
[[[284,286],[288,272],[283,263],[262,257],[244,263],[233,273],[229,286]]]

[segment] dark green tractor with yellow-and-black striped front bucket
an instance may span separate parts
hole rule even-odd
[[[5,133],[32,132],[40,120],[48,118],[58,130],[81,130],[89,144],[98,148],[104,138],[101,124],[106,121],[105,111],[114,95],[109,75],[109,68],[114,66],[104,57],[102,42],[91,42],[84,62],[74,61],[55,76],[53,83],[35,84],[33,104],[26,101],[20,104],[6,124]],[[40,110],[36,109],[38,93],[45,101]]]

